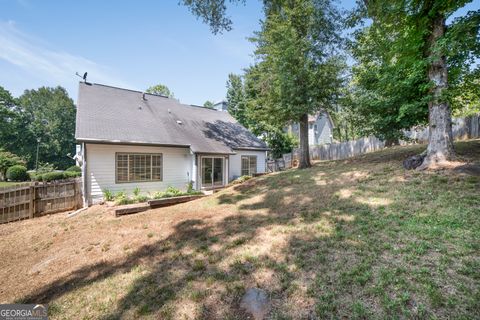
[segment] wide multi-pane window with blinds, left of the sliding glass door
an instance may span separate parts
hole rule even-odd
[[[162,181],[161,153],[117,153],[117,182]]]

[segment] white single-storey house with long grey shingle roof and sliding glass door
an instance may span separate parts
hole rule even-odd
[[[225,186],[265,172],[266,144],[228,112],[160,95],[80,83],[76,132],[87,204],[103,190]]]

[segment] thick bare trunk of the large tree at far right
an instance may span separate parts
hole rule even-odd
[[[442,97],[448,87],[446,58],[435,52],[438,40],[445,34],[445,17],[438,15],[433,20],[432,33],[428,39],[431,65],[428,78],[434,83],[431,89],[432,101],[428,104],[429,138],[427,155],[419,167],[426,169],[449,161],[455,156],[452,136],[452,115],[450,106]]]

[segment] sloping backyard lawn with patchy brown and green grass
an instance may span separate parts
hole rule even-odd
[[[456,144],[480,162],[480,140]],[[0,225],[0,303],[51,319],[480,318],[480,177],[405,171],[422,146],[317,163],[115,218]]]

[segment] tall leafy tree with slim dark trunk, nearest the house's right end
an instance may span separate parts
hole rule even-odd
[[[300,124],[299,168],[310,167],[308,114],[333,107],[342,84],[340,15],[330,1],[276,1],[266,5],[257,45],[255,113],[259,120]]]

